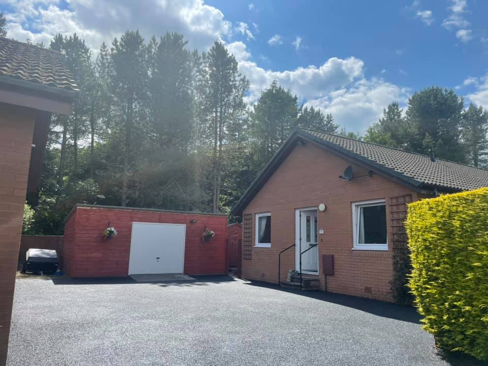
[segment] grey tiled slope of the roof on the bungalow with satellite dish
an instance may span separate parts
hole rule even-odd
[[[437,158],[435,162],[432,162],[426,155],[408,153],[400,149],[305,128],[300,130],[306,135],[345,149],[360,159],[380,164],[386,169],[413,179],[419,186],[427,185],[463,191],[488,187],[488,170]]]

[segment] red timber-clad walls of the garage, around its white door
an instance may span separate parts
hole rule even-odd
[[[107,240],[102,232],[109,222],[118,235]],[[65,225],[65,272],[71,277],[127,276],[133,222],[185,224],[185,273],[226,272],[226,216],[105,207],[77,207],[69,217]],[[204,227],[215,231],[208,242],[201,240]]]

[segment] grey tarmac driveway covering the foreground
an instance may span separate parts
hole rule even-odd
[[[414,309],[225,276],[23,278],[12,317],[8,366],[481,364],[438,351]]]

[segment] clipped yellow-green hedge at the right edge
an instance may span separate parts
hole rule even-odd
[[[488,359],[488,188],[411,203],[409,287],[444,349]]]

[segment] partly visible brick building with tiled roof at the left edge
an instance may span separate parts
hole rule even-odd
[[[36,194],[51,113],[79,96],[63,55],[0,38],[0,366],[6,364],[25,197]]]

